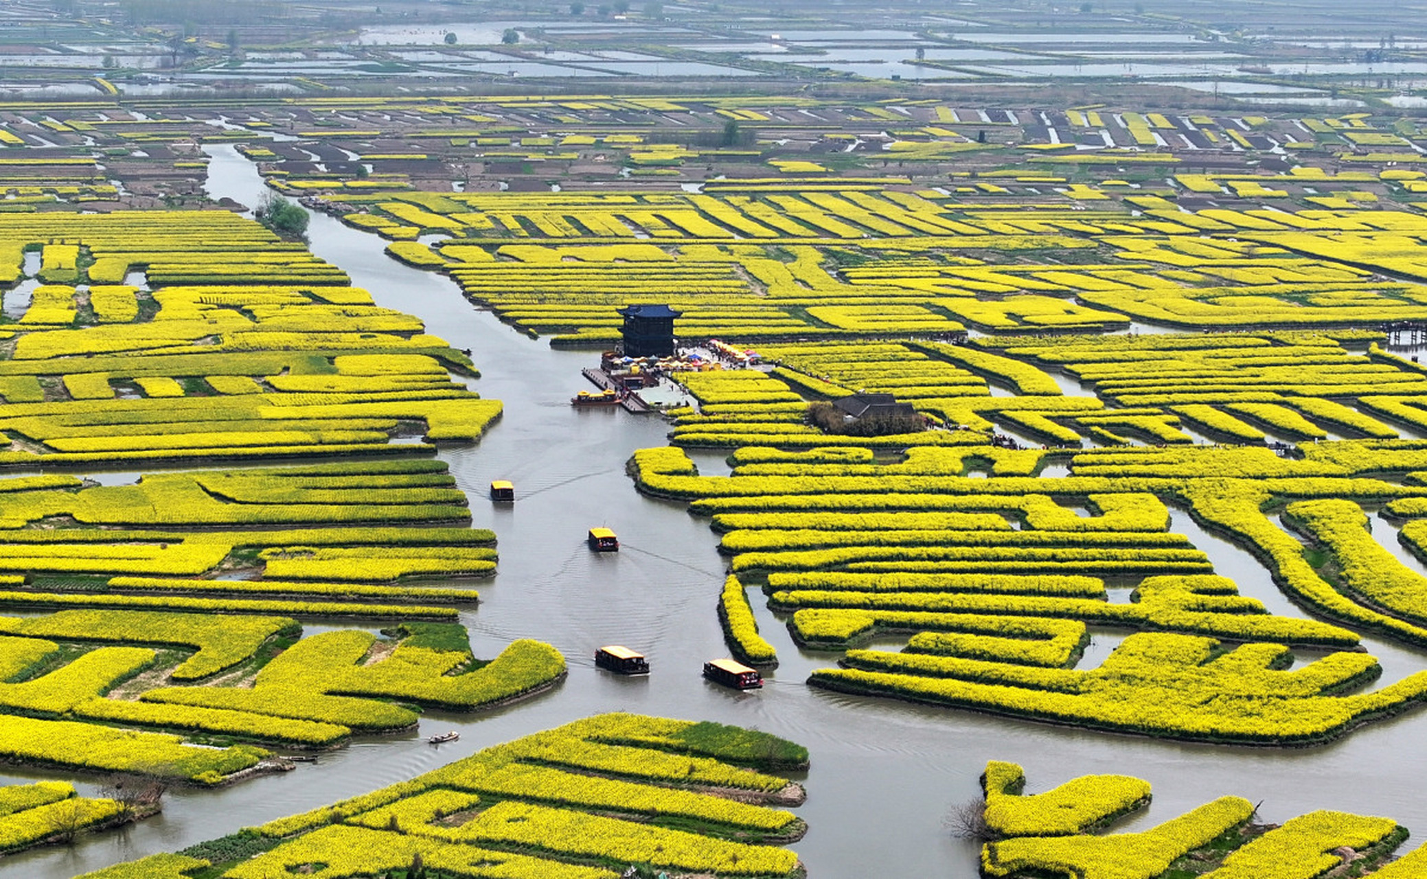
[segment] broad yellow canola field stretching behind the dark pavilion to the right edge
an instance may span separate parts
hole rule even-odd
[[[1137,143],[1154,134],[1129,124]],[[1287,195],[1273,188],[1274,180],[1297,184],[1307,177],[1177,177],[1190,191],[1230,186],[1243,198]],[[681,337],[745,342],[955,334],[966,325],[1104,331],[1132,318],[1182,328],[1261,328],[1427,317],[1420,285],[1371,281],[1373,271],[1424,277],[1423,218],[1403,210],[1184,211],[1159,195],[1130,195],[1126,201],[1137,208],[1132,215],[1109,204],[959,204],[935,193],[868,191],[850,181],[841,188],[812,178],[716,183],[702,194],[452,193],[420,205],[378,197],[365,203],[368,213],[347,214],[347,221],[392,238],[408,237],[398,230],[452,235],[441,257],[398,241],[420,248],[398,258],[451,273],[504,320],[562,334],[557,344],[615,340],[615,308],[641,295],[682,311]],[[1007,191],[979,186],[970,191]],[[1109,200],[1085,184],[1065,191],[1072,201]],[[512,238],[529,244],[509,244]],[[775,258],[772,245],[792,253],[793,261]],[[1102,258],[1007,267],[962,255],[1039,248],[1093,248]],[[858,260],[829,267],[823,255],[833,250]],[[919,260],[895,258],[910,254]],[[582,281],[596,275],[606,290],[589,293]]]

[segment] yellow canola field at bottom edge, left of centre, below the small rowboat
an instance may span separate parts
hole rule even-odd
[[[554,755],[565,766],[549,765]],[[361,876],[405,868],[420,853],[428,869],[511,879],[604,879],[629,865],[795,876],[796,855],[778,843],[805,828],[773,806],[801,802],[802,789],[769,772],[801,766],[806,751],[768,733],[596,715],[268,822],[257,830],[275,848],[217,868],[233,879],[317,863],[332,876]],[[729,786],[746,792],[733,799]],[[160,858],[138,863],[176,878],[203,863]]]

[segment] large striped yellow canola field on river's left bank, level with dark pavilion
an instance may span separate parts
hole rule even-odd
[[[465,355],[234,214],[0,218],[0,241],[56,238],[44,245],[47,284],[0,364],[4,418],[17,420],[6,430],[26,440],[0,464],[411,454],[421,447],[390,442],[394,420],[425,422],[434,441],[474,441],[499,414],[428,368],[471,374]],[[81,305],[73,284],[86,264],[94,285]],[[148,290],[123,284],[131,271]],[[378,354],[404,368],[374,377],[338,364]],[[63,380],[64,392],[39,395],[24,377]],[[116,398],[126,387],[137,398]]]

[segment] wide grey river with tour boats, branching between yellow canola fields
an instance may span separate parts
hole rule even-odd
[[[254,204],[264,191],[254,167],[231,146],[205,151],[213,157],[210,194]],[[594,352],[554,351],[545,341],[509,330],[471,307],[448,278],[388,258],[381,238],[321,214],[313,215],[310,237],[314,253],[344,268],[378,304],[415,314],[430,332],[471,348],[482,374],[472,387],[504,401],[504,418],[479,445],[441,452],[471,498],[474,525],[494,528],[499,537],[499,572],[481,586],[482,604],[464,622],[482,656],[514,638],[549,641],[567,655],[569,679],[555,692],[494,713],[428,713],[420,733],[362,739],[284,776],[214,792],[176,789],[158,818],[86,838],[70,849],[6,858],[0,875],[60,879],[174,850],[604,711],[756,726],[806,745],[812,752],[809,796],[798,812],[811,830],[792,848],[812,879],[975,876],[977,848],[953,839],[943,816],[976,796],[989,759],[1026,766],[1032,792],[1092,772],[1144,778],[1154,785],[1153,806],[1126,826],[1147,826],[1234,793],[1263,801],[1260,815],[1267,820],[1331,808],[1388,815],[1417,836],[1427,832],[1427,799],[1417,783],[1427,769],[1418,745],[1427,732],[1423,712],[1327,748],[1271,751],[1160,742],[845,696],[803,684],[811,669],[831,665],[836,654],[796,649],[761,602],[755,612],[782,658],[768,688],[735,693],[704,682],[702,661],[726,654],[715,615],[723,579],[716,535],[682,504],[641,497],[624,472],[634,449],[665,444],[668,425],[624,411],[572,410],[569,397],[585,387],[579,368],[595,361]],[[515,482],[514,507],[494,508],[485,501],[492,478]],[[584,534],[591,525],[612,527],[624,549],[589,554]],[[1277,592],[1251,557],[1194,529],[1183,514],[1176,514],[1174,525],[1210,554],[1222,574],[1239,579],[1244,594],[1300,615],[1281,596],[1274,599]],[[1103,638],[1092,661],[1117,641],[1112,634]],[[654,674],[621,679],[596,672],[591,654],[609,642],[648,654]],[[1404,658],[1411,655],[1396,651],[1393,665]],[[459,729],[461,739],[435,748],[420,738],[445,729]]]

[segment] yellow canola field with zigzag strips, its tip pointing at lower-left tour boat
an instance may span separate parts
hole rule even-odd
[[[412,709],[387,699],[474,711],[539,692],[565,675],[561,655],[535,641],[477,662],[468,648],[454,646],[465,641],[455,624],[407,624],[381,645],[365,631],[298,639],[291,619],[263,616],[86,609],[0,624],[0,671],[16,681],[0,684],[3,711],[241,741],[332,745],[352,729],[415,722]],[[63,656],[57,641],[151,644],[193,655],[168,654],[160,665],[158,654],[144,646]],[[240,664],[235,675],[221,674]],[[133,689],[128,682],[150,669],[158,676]],[[193,681],[200,684],[174,686]]]

